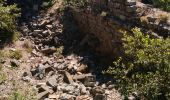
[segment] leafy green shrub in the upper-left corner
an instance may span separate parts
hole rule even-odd
[[[16,5],[6,5],[4,0],[0,0],[0,29],[13,31],[18,12]]]

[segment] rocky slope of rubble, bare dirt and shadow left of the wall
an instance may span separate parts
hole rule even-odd
[[[113,80],[101,74],[92,50],[81,44],[84,38],[69,11],[59,10],[56,4],[23,23],[19,30],[19,41],[6,51],[19,49],[23,56],[20,60],[3,60],[7,79],[0,84],[0,99],[8,100],[15,87],[22,92],[33,87],[38,100],[122,99]],[[17,68],[11,69],[12,65]]]

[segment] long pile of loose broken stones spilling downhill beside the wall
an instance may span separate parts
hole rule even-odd
[[[63,25],[58,15],[35,18],[21,27],[23,37],[34,48],[27,61],[31,65],[22,80],[36,84],[39,100],[113,100],[111,84],[99,85],[96,76],[90,73],[88,59],[74,54],[55,55],[56,48],[63,45]],[[85,63],[86,62],[86,63]],[[93,64],[94,65],[94,64]],[[116,95],[118,99],[120,95]],[[115,96],[114,96],[115,97]],[[118,100],[117,99],[117,100]]]

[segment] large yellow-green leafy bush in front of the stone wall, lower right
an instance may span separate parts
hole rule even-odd
[[[133,36],[124,34],[122,39],[125,55],[106,73],[113,75],[125,97],[170,99],[170,38],[153,39],[138,28],[132,32]]]

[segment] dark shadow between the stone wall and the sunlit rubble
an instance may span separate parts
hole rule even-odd
[[[88,43],[81,45],[87,34],[79,30],[78,24],[69,8],[65,9],[61,22],[63,24],[64,55],[76,54],[83,57],[81,63],[88,65],[89,72],[96,76],[96,81],[99,84],[109,81],[114,82],[110,75],[102,73],[112,64],[112,60],[107,56],[101,56]]]

